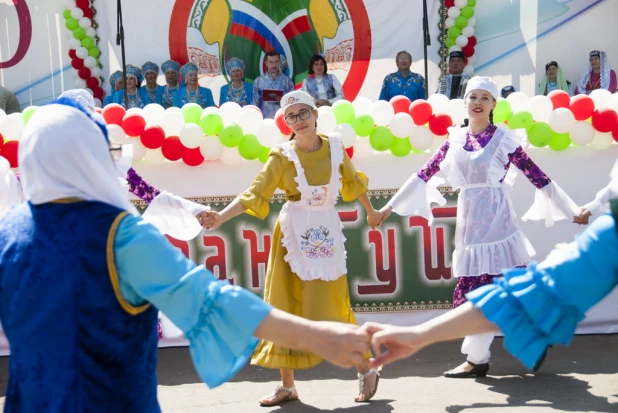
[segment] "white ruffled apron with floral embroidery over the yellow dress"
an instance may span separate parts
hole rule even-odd
[[[299,201],[287,201],[279,215],[282,243],[287,249],[285,261],[292,272],[305,281],[335,281],[346,274],[345,237],[335,209],[343,162],[343,146],[338,137],[329,137],[331,174],[326,185],[307,183],[304,169],[291,142],[280,146],[281,152],[296,168]]]

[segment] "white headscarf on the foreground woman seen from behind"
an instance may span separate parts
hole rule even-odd
[[[95,122],[92,114],[73,100],[60,99],[40,107],[19,142],[26,200],[38,205],[77,197],[137,215],[118,182],[104,130],[105,125]]]

